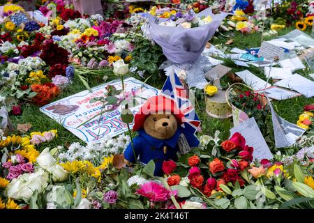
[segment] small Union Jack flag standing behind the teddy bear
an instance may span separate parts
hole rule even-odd
[[[192,132],[195,134],[197,128],[200,127],[200,119],[195,113],[195,109],[188,98],[186,89],[184,89],[184,86],[181,84],[175,72],[172,72],[167,77],[160,95],[164,95],[166,98],[170,98],[176,102],[177,108],[184,114],[184,123],[182,124],[184,132]]]

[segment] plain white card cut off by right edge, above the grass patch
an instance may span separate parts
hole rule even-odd
[[[297,91],[306,98],[311,98],[314,96],[314,82],[298,74],[282,79],[281,81],[276,82],[275,85]]]

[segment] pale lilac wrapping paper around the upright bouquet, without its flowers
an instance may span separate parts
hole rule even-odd
[[[214,36],[214,33],[228,13],[214,15],[211,8],[196,14],[197,17],[208,15],[212,21],[200,27],[186,29],[182,26],[163,26],[160,22],[167,19],[156,18],[148,15],[149,33],[151,38],[163,49],[163,54],[168,60],[174,63],[193,63],[202,54],[207,42]]]

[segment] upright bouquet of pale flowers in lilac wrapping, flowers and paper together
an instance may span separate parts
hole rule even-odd
[[[167,59],[174,63],[192,63],[203,52],[205,45],[227,13],[214,15],[211,8],[207,8],[195,14],[192,10],[186,14],[177,13],[173,17],[174,20],[177,19],[176,22],[172,19],[156,19],[151,15],[148,16],[151,38],[162,47]],[[195,22],[197,25],[192,28],[194,21],[197,21]]]

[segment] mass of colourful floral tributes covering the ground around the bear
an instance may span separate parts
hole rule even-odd
[[[195,18],[211,7],[213,13],[232,14],[217,34],[243,37],[263,29],[274,34],[287,26],[309,31],[314,16],[314,3],[303,1],[274,3],[264,21],[255,15],[252,0],[172,0],[151,6],[103,2],[104,16],[80,13],[67,2],[37,1],[34,7],[47,23],[13,2],[1,10],[0,105],[12,115],[23,113],[22,104],[39,107],[57,100],[77,84],[75,78],[88,86],[92,72],[158,79],[165,56],[151,40],[147,13],[165,19],[164,26],[193,29],[212,22],[211,16]],[[261,97],[239,91],[230,100],[268,134],[269,106]],[[313,111],[314,105],[304,107],[297,125],[311,130]],[[219,129],[214,137],[199,133],[200,146],[178,155],[177,161],[163,162],[159,177],[154,176],[154,161],[124,164],[132,139],[128,134],[68,144],[57,141],[57,130],[11,134],[0,129],[0,209],[314,207],[313,134],[287,150],[272,148],[274,159],[258,161],[255,148],[239,132],[226,137],[229,129]]]

